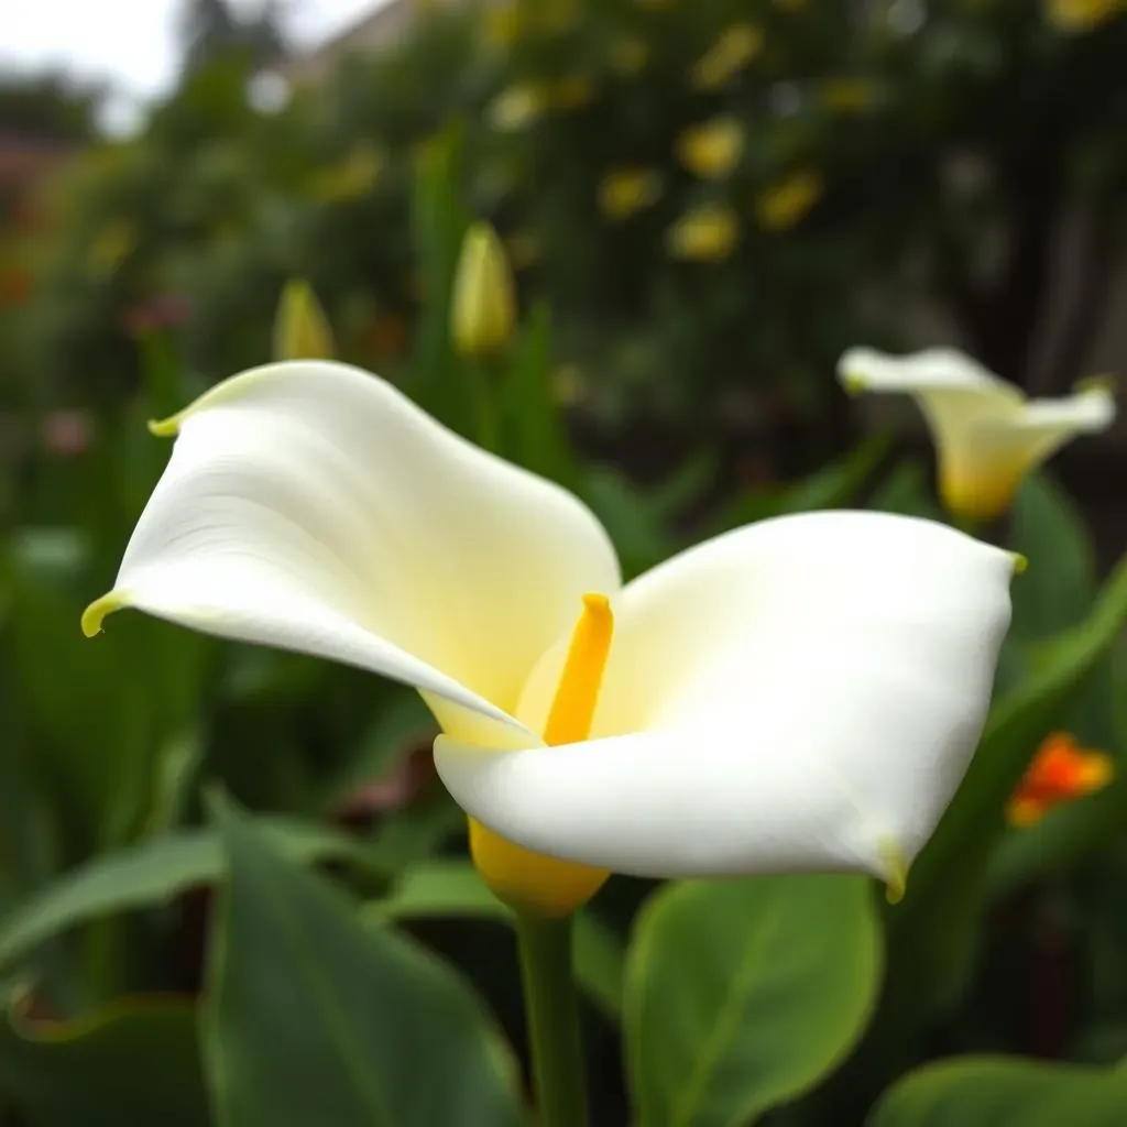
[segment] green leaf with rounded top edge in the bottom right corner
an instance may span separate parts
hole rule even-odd
[[[1127,1070],[1004,1057],[947,1061],[885,1093],[868,1127],[1122,1127]]]

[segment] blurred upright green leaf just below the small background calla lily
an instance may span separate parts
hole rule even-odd
[[[1044,474],[1030,474],[1018,490],[1009,547],[1029,560],[1013,585],[1010,636],[1051,638],[1082,621],[1099,587],[1095,550],[1065,492]]]

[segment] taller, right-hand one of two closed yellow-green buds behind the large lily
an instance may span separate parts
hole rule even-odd
[[[513,273],[497,232],[473,223],[465,232],[454,277],[454,344],[463,356],[504,348],[516,321]]]

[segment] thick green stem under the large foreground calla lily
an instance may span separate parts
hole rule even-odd
[[[579,1005],[571,973],[571,917],[517,913],[516,939],[540,1127],[586,1127]]]

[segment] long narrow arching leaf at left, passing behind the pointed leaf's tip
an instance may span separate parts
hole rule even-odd
[[[293,861],[344,860],[378,872],[353,838],[318,826],[275,820],[263,826],[274,846]],[[0,970],[46,940],[81,923],[170,900],[223,875],[223,852],[212,831],[169,834],[106,853],[60,877],[0,923]],[[382,872],[379,873],[382,876]]]

